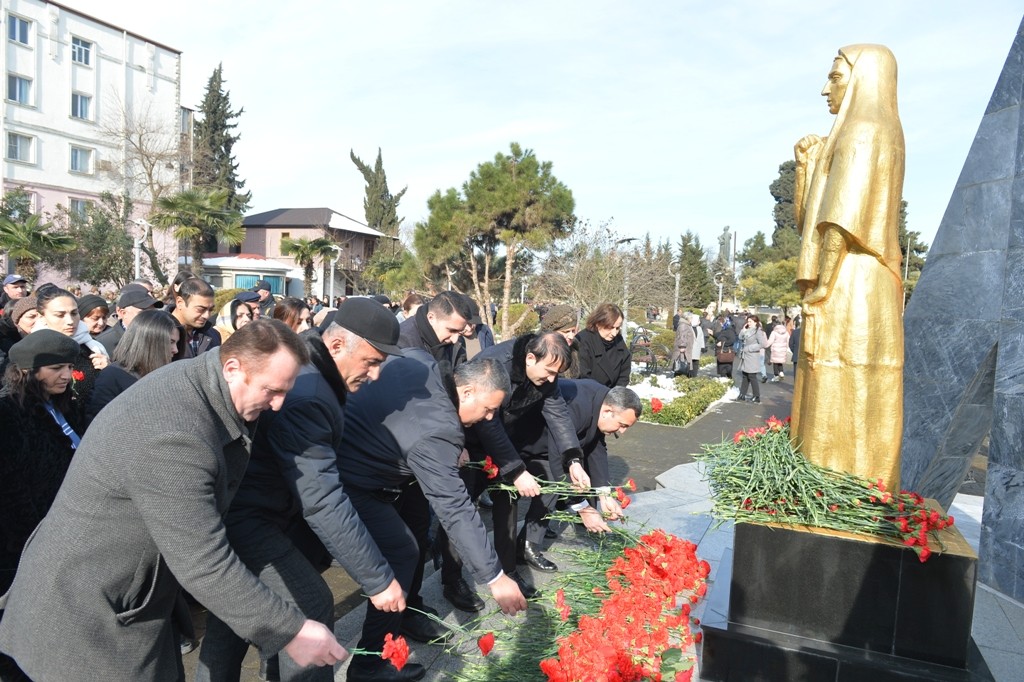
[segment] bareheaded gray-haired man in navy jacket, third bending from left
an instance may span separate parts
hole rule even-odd
[[[500,363],[465,363],[446,385],[433,358],[411,348],[384,363],[379,379],[348,400],[338,451],[341,479],[412,607],[422,608],[418,599],[430,521],[428,501],[476,580],[490,588],[502,610],[512,614],[526,607],[518,586],[502,572],[459,476],[463,429],[489,421],[508,390],[508,375]],[[368,603],[359,648],[381,650],[387,633],[408,632],[402,623],[407,619],[408,611],[384,611]],[[375,665],[369,658],[352,662],[349,680],[369,679],[366,671]],[[372,679],[419,679],[401,676],[408,669]]]

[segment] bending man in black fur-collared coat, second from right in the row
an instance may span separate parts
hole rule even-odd
[[[499,360],[512,381],[512,392],[503,406],[501,419],[481,422],[471,430],[469,451],[478,459],[489,455],[499,468],[499,473],[512,480],[523,497],[531,497],[529,511],[522,541],[516,543],[517,497],[509,493],[492,494],[495,525],[495,548],[502,562],[502,569],[519,582],[527,596],[537,592],[519,576],[517,561],[540,570],[557,570],[541,552],[546,525],[543,518],[554,506],[550,496],[540,496],[540,486],[535,476],[552,480],[552,472],[567,470],[572,482],[582,487],[590,487],[590,478],[583,468],[580,441],[569,418],[565,401],[558,391],[558,373],[570,357],[565,338],[557,332],[541,335],[525,334],[487,348],[480,358]],[[524,434],[529,433],[536,423],[547,425],[555,443],[548,460],[524,461],[519,456]],[[451,550],[451,548],[449,548]],[[473,604],[462,600],[459,582],[462,580],[462,564],[455,552],[443,557],[441,583],[445,586],[444,596],[459,608],[473,610]],[[462,603],[459,603],[462,602]]]

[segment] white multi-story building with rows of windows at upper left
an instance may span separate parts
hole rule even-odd
[[[0,9],[4,191],[24,187],[35,212],[52,214],[127,190],[144,215],[155,193],[187,182],[180,51],[56,2],[0,0]]]

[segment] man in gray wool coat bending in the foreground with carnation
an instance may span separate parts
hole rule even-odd
[[[222,521],[254,423],[281,409],[308,359],[283,323],[253,323],[111,402],[22,555],[0,650],[36,682],[183,680],[171,625],[180,583],[261,649],[300,665],[344,658],[328,628],[245,567]]]

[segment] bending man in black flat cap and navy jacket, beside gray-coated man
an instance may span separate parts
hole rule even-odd
[[[326,548],[324,563],[336,559],[376,608],[406,607],[391,567],[342,487],[337,464],[346,399],[377,379],[388,354],[399,352],[398,321],[373,299],[352,298],[302,339],[311,361],[302,368],[281,412],[260,419],[225,524],[231,548],[263,584],[306,617],[333,628],[334,596],[314,565],[322,557],[307,558],[313,553],[309,548],[317,554]],[[211,615],[196,679],[237,680],[248,647]],[[280,674],[283,681],[333,679],[330,668],[304,670],[285,653]]]

